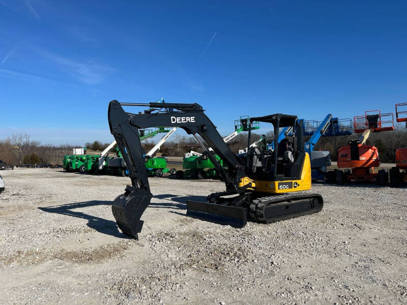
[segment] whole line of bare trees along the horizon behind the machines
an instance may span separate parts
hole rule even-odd
[[[346,145],[351,139],[358,138],[359,135],[343,136],[343,137],[322,137],[315,150],[328,150],[332,155],[332,160],[338,158],[338,148]],[[251,143],[257,141],[261,134],[252,133]],[[271,132],[266,134],[268,142],[272,142],[274,135]],[[307,141],[308,138],[305,138]],[[231,150],[237,154],[239,149],[247,147],[248,134],[240,133],[235,138],[231,139],[227,144]],[[374,145],[379,149],[380,160],[383,163],[393,163],[395,161],[396,149],[407,147],[407,131],[400,125],[395,126],[394,131],[373,133],[368,138],[368,145]],[[109,143],[102,143],[98,140],[85,143],[86,148],[90,150],[101,151],[106,148]],[[152,141],[141,142],[143,153],[146,154],[155,145]],[[32,140],[27,134],[13,134],[11,137],[0,140],[0,160],[12,165],[20,164],[51,164],[60,165],[65,155],[72,154],[72,148],[82,147],[81,145],[43,145],[37,140]],[[110,151],[114,151],[113,147]],[[176,134],[163,145],[161,145],[158,156],[163,157],[183,157],[188,151],[194,150],[202,153],[202,148],[194,137],[187,135]]]

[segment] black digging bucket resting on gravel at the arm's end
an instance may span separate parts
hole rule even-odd
[[[114,199],[111,210],[122,232],[138,239],[143,221],[140,220],[144,210],[150,204],[153,195],[146,190],[127,186],[126,192]]]

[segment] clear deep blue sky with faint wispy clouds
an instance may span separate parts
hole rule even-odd
[[[407,101],[407,2],[0,0],[0,138],[110,142],[107,105],[323,119]]]

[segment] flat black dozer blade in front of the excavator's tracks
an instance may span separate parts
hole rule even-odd
[[[247,223],[247,208],[188,200],[187,216],[243,228]]]

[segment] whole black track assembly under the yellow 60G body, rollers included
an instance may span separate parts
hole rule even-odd
[[[250,218],[260,223],[273,223],[322,210],[324,200],[319,194],[281,194],[252,200]]]

